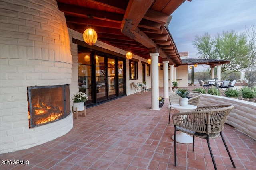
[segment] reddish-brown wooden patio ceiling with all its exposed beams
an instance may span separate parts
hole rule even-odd
[[[90,25],[98,41],[149,59],[160,54],[159,63],[182,64],[176,45],[164,26],[185,0],[56,0],[70,29],[83,33]],[[92,16],[93,19],[89,19]]]

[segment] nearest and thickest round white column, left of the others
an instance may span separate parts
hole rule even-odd
[[[151,109],[159,110],[159,53],[150,53],[149,55],[151,57]]]

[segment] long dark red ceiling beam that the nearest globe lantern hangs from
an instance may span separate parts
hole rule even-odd
[[[80,16],[84,18],[87,16],[93,16],[95,19],[108,20],[119,23],[124,17],[124,15],[118,13],[106,12],[62,3],[58,3],[58,7],[59,10],[64,12],[65,14]]]

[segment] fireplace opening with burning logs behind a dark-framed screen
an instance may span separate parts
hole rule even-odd
[[[69,84],[28,87],[29,127],[45,125],[70,114]]]

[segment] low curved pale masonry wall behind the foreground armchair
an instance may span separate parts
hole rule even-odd
[[[256,140],[256,104],[244,100],[203,94],[199,106],[232,104],[234,109],[228,115],[226,123],[238,131]]]

